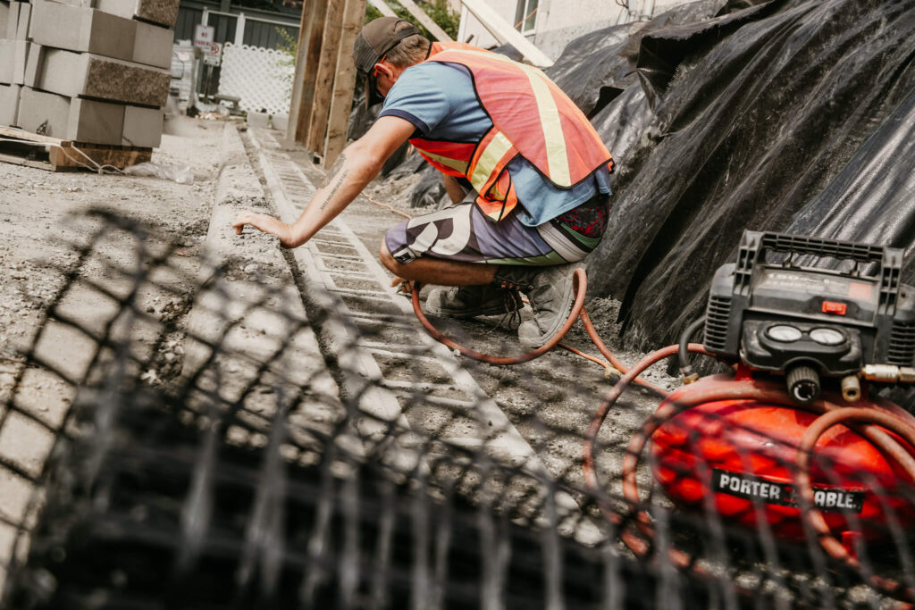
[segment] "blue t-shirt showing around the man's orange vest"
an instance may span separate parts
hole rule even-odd
[[[477,143],[492,128],[479,103],[470,71],[459,64],[427,61],[404,70],[384,99],[379,116],[398,116],[425,139]],[[518,218],[529,227],[610,192],[607,166],[571,188],[556,187],[521,155],[507,166],[522,209]]]

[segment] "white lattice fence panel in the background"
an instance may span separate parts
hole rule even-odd
[[[289,112],[295,68],[289,56],[273,48],[233,45],[222,49],[220,93],[242,98],[246,111]]]

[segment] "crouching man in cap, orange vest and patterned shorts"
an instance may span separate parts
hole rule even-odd
[[[388,230],[381,260],[433,290],[425,310],[468,318],[504,314],[526,294],[522,344],[543,345],[574,301],[576,265],[607,227],[612,161],[591,123],[541,70],[463,43],[434,43],[408,21],[382,17],[356,39],[366,103],[384,101],[292,225],[242,212],[233,222],[308,241],[409,140],[445,175],[454,205]]]

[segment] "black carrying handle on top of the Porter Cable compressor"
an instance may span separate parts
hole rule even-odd
[[[877,313],[893,316],[896,312],[896,302],[899,298],[899,277],[902,273],[902,250],[899,248],[771,231],[745,230],[737,251],[737,268],[734,277],[735,294],[749,294],[753,268],[757,263],[765,262],[767,251],[829,256],[856,262],[877,262],[880,266],[879,272],[874,278],[879,283]]]

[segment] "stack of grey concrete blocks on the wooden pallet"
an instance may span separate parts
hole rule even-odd
[[[0,124],[158,146],[177,16],[178,0],[0,0]]]

